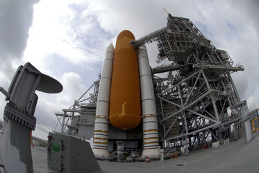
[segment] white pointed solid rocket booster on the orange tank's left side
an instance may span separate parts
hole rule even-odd
[[[106,157],[108,152],[108,113],[110,105],[110,84],[112,80],[112,64],[115,49],[112,44],[106,48],[103,60],[99,93],[97,98],[97,111],[94,123],[94,147],[95,156]]]

